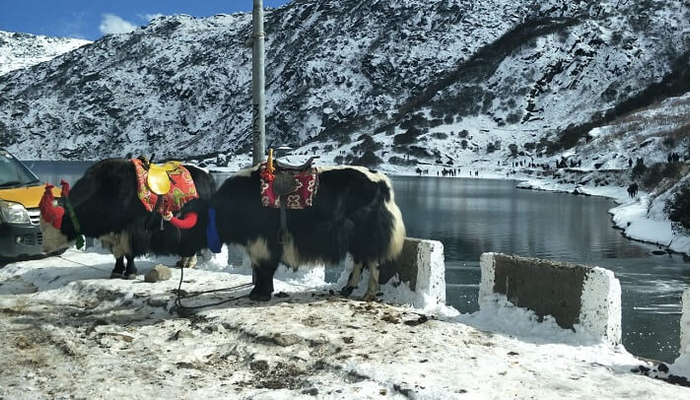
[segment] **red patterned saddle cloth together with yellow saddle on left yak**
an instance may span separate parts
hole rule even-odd
[[[199,197],[190,171],[180,163],[151,164],[149,170],[138,158],[132,159],[131,162],[136,168],[138,198],[146,210],[155,210],[166,219],[170,219],[185,203]],[[160,195],[160,201],[158,193],[163,193]]]

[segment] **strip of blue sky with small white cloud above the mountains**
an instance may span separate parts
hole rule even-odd
[[[279,7],[290,0],[263,0]],[[249,12],[253,0],[0,0],[0,30],[96,40],[147,25],[157,15]]]

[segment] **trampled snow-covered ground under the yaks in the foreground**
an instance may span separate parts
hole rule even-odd
[[[185,270],[183,289],[250,281],[226,260]],[[147,272],[174,261],[137,265]],[[538,323],[502,301],[457,315],[389,304],[402,290],[390,285],[386,302],[342,298],[317,277],[275,281],[269,303],[241,299],[181,316],[173,310],[178,270],[146,283],[105,279],[112,266],[110,255],[69,250],[0,269],[1,398],[689,397],[688,388],[630,372],[646,363],[622,346]]]

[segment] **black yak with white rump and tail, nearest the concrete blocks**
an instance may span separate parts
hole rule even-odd
[[[198,208],[200,213],[210,208],[210,241],[213,224],[218,241],[246,249],[255,273],[249,297],[257,301],[271,298],[273,276],[280,262],[291,268],[337,264],[349,253],[354,268],[342,294],[349,295],[357,287],[361,270],[367,267],[370,280],[364,299],[374,299],[379,265],[398,257],[405,238],[389,179],[364,167],[317,168],[313,205],[287,209],[284,229],[280,209],[262,205],[260,171],[254,167],[228,178],[209,207],[203,206],[207,203],[203,200],[185,206]],[[200,217],[199,221],[204,219]]]

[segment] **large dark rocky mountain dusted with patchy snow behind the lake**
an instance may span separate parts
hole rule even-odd
[[[355,156],[384,165],[560,151],[688,90],[687,0],[297,0],[265,24],[271,144],[337,157],[382,136]],[[26,159],[247,152],[250,32],[250,14],[162,17],[5,74],[0,146]]]

